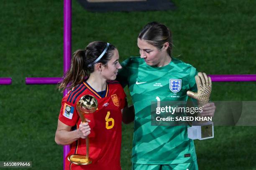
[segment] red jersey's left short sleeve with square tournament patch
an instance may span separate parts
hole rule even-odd
[[[75,108],[75,105],[67,102],[67,96],[62,98],[61,110],[59,112],[59,120],[65,125],[74,126],[79,119],[79,115]]]

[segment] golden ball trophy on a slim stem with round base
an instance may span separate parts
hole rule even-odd
[[[84,95],[77,102],[77,112],[79,113],[82,123],[86,122],[84,117],[85,114],[93,113],[97,110],[98,102],[96,98],[92,95]],[[88,165],[92,163],[89,157],[89,138],[87,136],[86,140],[86,155],[74,154],[68,157],[68,160],[76,165]]]

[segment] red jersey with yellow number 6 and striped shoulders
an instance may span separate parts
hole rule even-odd
[[[63,97],[59,120],[71,126],[73,130],[78,129],[81,120],[75,105],[83,95],[88,94],[95,96],[98,102],[97,110],[86,115],[86,118],[91,120],[89,157],[92,159],[92,164],[75,165],[67,160],[72,154],[86,155],[85,139],[80,138],[71,145],[65,161],[65,170],[121,170],[121,109],[125,107],[126,95],[117,81],[108,81],[103,94],[96,92],[87,82],[83,82],[69,95]]]

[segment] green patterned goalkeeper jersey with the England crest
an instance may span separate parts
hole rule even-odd
[[[132,162],[165,165],[196,160],[193,140],[187,138],[187,126],[151,125],[151,102],[187,101],[188,90],[197,91],[195,67],[172,58],[164,67],[148,66],[140,57],[122,64],[117,80],[128,85],[135,108]]]

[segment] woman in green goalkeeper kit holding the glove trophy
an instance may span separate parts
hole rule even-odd
[[[117,77],[128,85],[135,110],[126,118],[134,120],[133,170],[197,170],[187,126],[151,125],[151,102],[187,101],[187,91],[197,92],[197,70],[171,56],[172,35],[165,25],[148,23],[138,35],[138,48],[141,56],[125,60]],[[207,103],[201,115],[214,112],[214,103]]]

